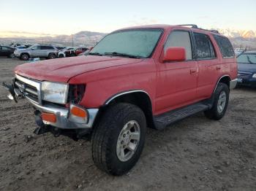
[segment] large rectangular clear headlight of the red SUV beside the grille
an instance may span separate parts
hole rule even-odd
[[[42,99],[56,104],[66,104],[69,85],[56,82],[42,82]]]

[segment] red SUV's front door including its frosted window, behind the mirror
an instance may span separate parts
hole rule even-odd
[[[172,31],[165,42],[168,47],[184,47],[186,61],[157,63],[156,113],[191,104],[196,98],[197,62],[192,54],[192,41],[189,31]]]

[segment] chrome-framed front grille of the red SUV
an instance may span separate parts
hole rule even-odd
[[[16,75],[14,85],[26,98],[37,104],[41,103],[40,82]]]

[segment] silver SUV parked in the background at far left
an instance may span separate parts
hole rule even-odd
[[[35,44],[27,49],[15,50],[14,54],[20,60],[28,61],[29,58],[56,58],[58,50],[52,45]]]

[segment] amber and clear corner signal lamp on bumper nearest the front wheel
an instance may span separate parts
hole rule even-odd
[[[70,120],[73,122],[87,122],[88,114],[86,109],[81,106],[76,106],[74,104],[70,105]]]

